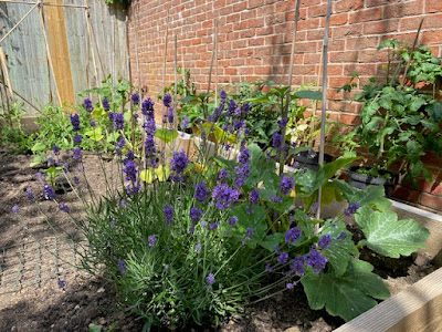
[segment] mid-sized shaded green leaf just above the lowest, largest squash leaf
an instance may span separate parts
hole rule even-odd
[[[339,238],[345,232],[346,238]],[[330,236],[332,243],[323,253],[327,257],[328,262],[333,266],[337,276],[343,276],[347,271],[348,262],[352,257],[358,256],[359,251],[351,240],[351,234],[347,230],[343,220],[336,222],[326,222],[320,236]]]

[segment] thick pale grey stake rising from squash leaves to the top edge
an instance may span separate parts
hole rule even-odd
[[[323,45],[323,108],[320,112],[320,145],[319,145],[319,166],[324,166],[324,146],[325,146],[325,122],[326,122],[326,102],[327,102],[327,53],[328,53],[328,27],[330,25],[332,0],[327,3],[327,15],[325,19],[324,30],[324,45]],[[323,196],[323,188],[318,190],[318,208],[316,211],[316,219],[320,218],[320,199]],[[319,230],[319,225],[315,225],[315,234]]]

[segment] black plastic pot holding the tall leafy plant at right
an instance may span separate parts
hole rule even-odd
[[[369,169],[367,167],[358,167],[358,166],[354,166],[350,167],[348,169],[348,184],[354,187],[354,188],[358,188],[358,189],[365,189],[368,186],[383,186],[385,190],[386,190],[386,196],[390,197],[391,194],[394,190],[394,186],[398,184],[399,181],[399,175],[388,172],[388,170],[380,170],[379,173],[381,175],[390,175],[390,178],[386,178],[386,177],[372,177],[366,174],[360,174],[358,173],[358,169],[360,168],[365,168],[365,169]]]

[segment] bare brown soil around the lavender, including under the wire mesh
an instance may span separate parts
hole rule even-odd
[[[69,238],[80,235],[66,214],[43,199],[42,185],[35,177],[38,169],[29,167],[31,159],[31,156],[11,156],[0,151],[0,331],[88,331],[91,324],[106,331],[113,323],[117,323],[114,331],[141,331],[143,323],[126,317],[118,308],[110,284],[70,264],[69,247],[57,247],[64,261],[55,261],[54,256],[39,249],[38,242],[54,243],[53,228],[67,234]],[[112,167],[112,163],[108,164],[106,168]],[[104,194],[105,179],[95,156],[85,156],[85,170],[93,179],[95,190]],[[50,222],[28,200],[25,190],[29,186]],[[73,191],[59,197],[80,211]],[[20,207],[19,215],[12,212],[14,205]],[[386,260],[369,250],[362,255],[375,263],[393,294],[435,269],[424,253],[400,260]],[[71,257],[71,263],[73,260]],[[330,317],[324,310],[309,310],[302,286],[298,286],[248,308],[243,317],[227,319],[221,326],[192,330],[323,332],[343,323],[341,319]]]

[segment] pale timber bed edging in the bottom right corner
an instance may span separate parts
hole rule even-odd
[[[442,269],[335,330],[335,332],[385,331],[442,331]]]

